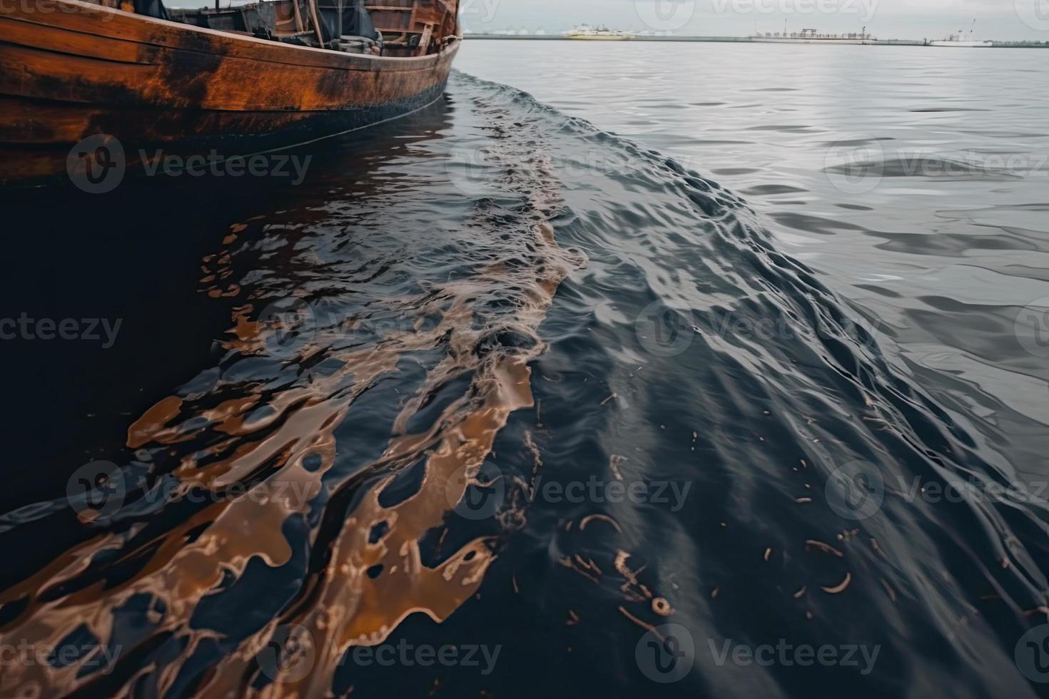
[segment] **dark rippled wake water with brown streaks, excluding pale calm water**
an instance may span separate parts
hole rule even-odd
[[[92,303],[149,332],[89,364],[170,378],[80,378],[62,395],[120,434],[22,447],[0,634],[73,651],[0,692],[1031,696],[1044,502],[1009,497],[1001,435],[916,378],[895,326],[780,249],[751,202],[789,193],[449,91],[299,188],[165,190],[208,203],[151,219],[160,247],[200,232],[160,281],[100,263],[136,285]],[[155,212],[143,188],[128,205]],[[944,485],[964,497],[924,495]],[[777,643],[865,659],[726,660]]]

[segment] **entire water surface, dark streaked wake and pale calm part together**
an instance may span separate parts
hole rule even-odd
[[[1037,696],[1049,56],[860,48],[10,201],[3,316],[122,324],[5,342],[0,694]]]

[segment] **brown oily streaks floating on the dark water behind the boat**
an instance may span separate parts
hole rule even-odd
[[[536,167],[544,189],[536,188],[532,193],[536,199],[533,206],[541,212],[550,209],[556,188],[551,182],[550,163],[540,159]],[[131,534],[114,533],[74,547],[36,575],[0,593],[0,604],[20,600],[24,605],[3,628],[4,636],[59,646],[70,630],[84,626],[106,642],[112,638],[114,610],[135,595],[148,595],[154,600],[156,616],[150,636],[170,632],[181,638],[186,649],[181,658],[188,658],[200,641],[215,633],[191,628],[190,619],[201,599],[220,588],[227,574],[239,578],[252,558],[259,558],[270,567],[291,559],[291,544],[281,527],[290,517],[303,515],[320,493],[321,480],[336,460],[335,430],[356,398],[380,377],[395,372],[398,361],[406,352],[431,349],[442,343],[447,343],[447,355],[405,402],[380,460],[365,468],[365,473],[380,468],[395,472],[423,458],[426,474],[419,492],[384,507],[379,495],[393,476],[372,485],[328,544],[330,556],[326,565],[303,581],[299,596],[303,603],[290,607],[240,642],[210,674],[200,693],[214,697],[248,693],[250,675],[257,672],[252,671],[252,662],[280,625],[296,624],[308,631],[318,648],[317,667],[301,680],[278,677],[261,694],[308,697],[327,691],[339,659],[351,646],[382,642],[413,613],[436,621],[448,618],[477,591],[493,560],[490,541],[477,538],[430,568],[422,564],[420,540],[443,525],[476,477],[510,414],[533,405],[528,363],[545,349],[535,331],[558,285],[578,264],[557,246],[543,217],[537,214],[535,219],[530,246],[536,252],[531,265],[509,271],[507,265],[497,263],[473,278],[446,283],[440,296],[416,309],[420,320],[440,315],[436,327],[422,329],[416,324],[412,330],[391,333],[374,348],[334,352],[331,356],[343,362],[338,371],[316,377],[307,386],[267,396],[265,403],[273,414],[265,418],[247,420],[262,401],[261,394],[252,391],[207,409],[195,408],[191,399],[172,396],[148,410],[128,431],[131,446],[168,453],[199,438],[205,431],[212,437],[211,447],[184,455],[171,472],[178,479],[179,494],[191,487],[221,492],[267,468],[272,473],[263,482],[279,481],[292,487],[262,498],[251,497],[249,492],[237,498],[218,499],[134,549],[125,548]],[[536,342],[529,349],[505,348],[478,354],[475,348],[485,329],[471,322],[476,310],[473,302],[480,289],[507,284],[508,275],[515,275],[513,283],[524,289],[521,307],[511,321],[513,327],[531,333]],[[254,304],[249,303],[233,310],[230,349],[244,354],[264,352],[269,330],[249,320],[253,309]],[[318,338],[315,346],[302,348],[301,354],[316,353],[323,342],[323,337]],[[473,376],[470,388],[445,408],[429,430],[406,434],[405,425],[424,405],[424,396],[467,374]],[[201,423],[207,427],[199,427]],[[262,432],[263,437],[249,439]],[[306,469],[303,461],[314,454],[320,455],[321,465]],[[215,456],[219,458],[205,461],[205,457]],[[455,478],[457,474],[463,478]],[[371,543],[368,533],[380,522],[388,524],[388,531]],[[202,533],[191,541],[190,533],[201,529]],[[317,531],[311,531],[311,545],[317,543],[316,537]],[[99,582],[68,594],[48,594],[76,581],[103,551],[119,552],[121,560],[141,558],[146,552],[148,558],[129,578],[111,587]],[[385,572],[372,578],[367,571],[379,564]],[[172,662],[160,669],[143,669],[128,682],[156,672],[163,695],[174,682],[178,665]],[[80,670],[76,663],[66,668],[10,668],[0,677],[0,693],[6,695],[18,689],[39,696],[68,694],[94,679],[79,676]],[[125,684],[124,691],[128,687]]]

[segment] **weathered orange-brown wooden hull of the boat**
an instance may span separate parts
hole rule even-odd
[[[80,0],[0,4],[0,182],[64,177],[94,134],[138,151],[283,148],[425,107],[458,41],[393,58],[295,46]]]

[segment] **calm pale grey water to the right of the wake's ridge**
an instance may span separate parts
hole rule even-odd
[[[1032,86],[1046,59],[484,41],[459,67],[745,195],[782,249],[893,328],[938,399],[989,421],[975,427],[1044,474],[1049,350],[1035,330],[1049,336],[1049,96]],[[1025,307],[1037,321],[1016,327]]]

